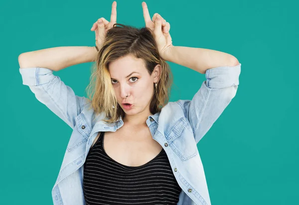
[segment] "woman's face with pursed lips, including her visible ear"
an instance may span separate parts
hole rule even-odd
[[[111,62],[109,72],[117,102],[125,113],[134,115],[149,112],[153,85],[158,82],[160,65],[156,65],[150,75],[143,59],[127,55]]]

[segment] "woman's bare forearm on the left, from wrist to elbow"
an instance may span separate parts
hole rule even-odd
[[[43,67],[54,71],[95,61],[97,50],[93,46],[63,46],[21,53],[18,56],[20,68]]]

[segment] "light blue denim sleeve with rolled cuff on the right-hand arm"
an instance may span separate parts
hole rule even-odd
[[[186,113],[196,143],[208,132],[235,97],[240,73],[241,63],[236,66],[208,69],[205,73],[206,80],[192,100],[177,101]]]

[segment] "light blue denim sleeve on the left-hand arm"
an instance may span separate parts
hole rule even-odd
[[[72,129],[75,117],[82,111],[85,97],[75,95],[53,70],[41,67],[19,68],[23,85],[28,85],[38,101],[67,123]]]

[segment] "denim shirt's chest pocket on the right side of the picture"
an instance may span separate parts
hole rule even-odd
[[[187,161],[198,153],[192,129],[184,117],[174,123],[165,134],[165,138],[182,161]]]

